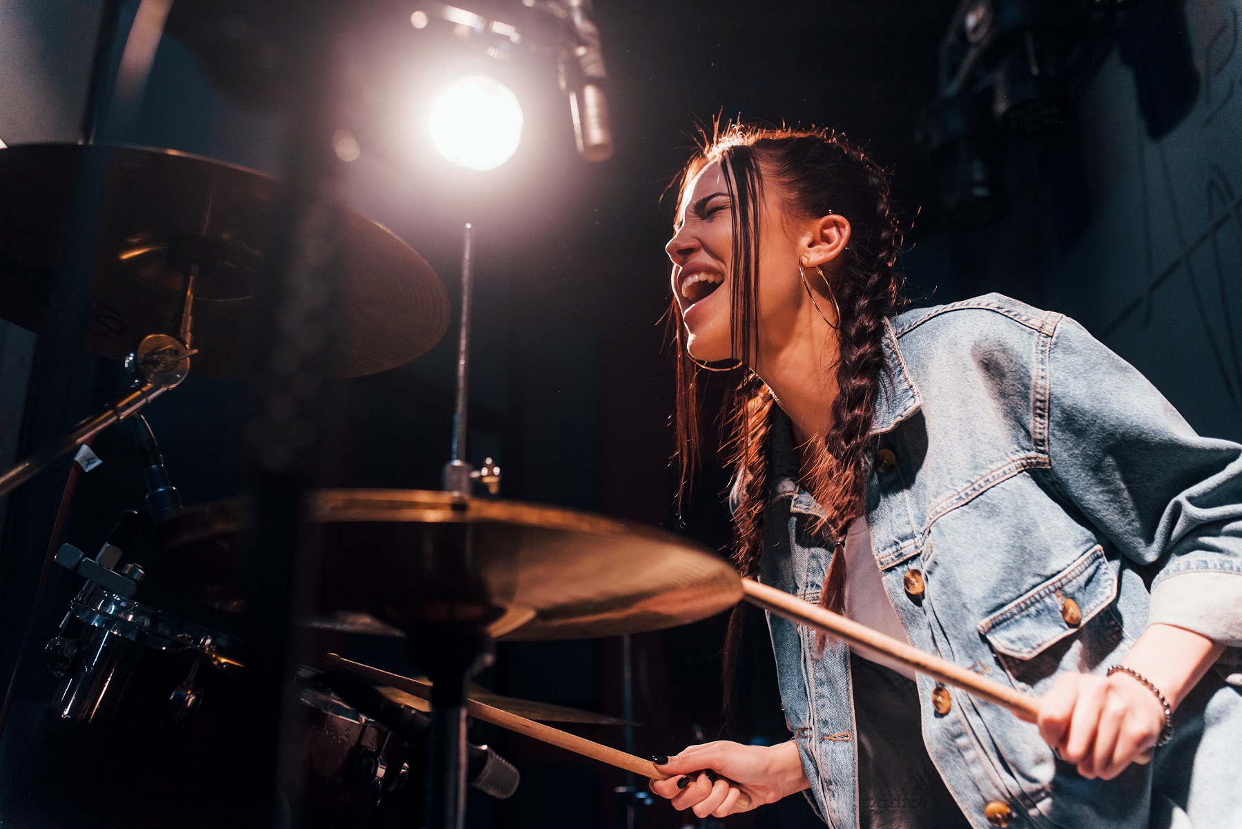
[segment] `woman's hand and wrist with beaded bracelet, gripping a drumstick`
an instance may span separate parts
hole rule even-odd
[[[1125,655],[1174,710],[1223,648],[1170,624],[1153,624]],[[1040,736],[1083,777],[1110,781],[1150,748],[1164,730],[1164,706],[1129,674],[1062,674],[1040,699]]]

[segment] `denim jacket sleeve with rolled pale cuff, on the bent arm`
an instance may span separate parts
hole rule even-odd
[[[1242,446],[1199,437],[1073,320],[1057,325],[1046,377],[1033,403],[1054,479],[1123,555],[1159,566],[1149,624],[1242,645]]]

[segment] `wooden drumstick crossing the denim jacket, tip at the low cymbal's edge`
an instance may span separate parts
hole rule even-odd
[[[919,650],[912,644],[884,635],[879,630],[868,628],[866,624],[827,611],[818,604],[811,604],[807,601],[756,582],[753,578],[741,580],[741,591],[748,602],[765,611],[771,611],[776,616],[782,616],[791,622],[831,633],[837,639],[858,650],[894,659],[920,674],[927,674],[933,679],[940,680],[945,685],[960,688],[972,696],[1006,707],[1020,720],[1036,722],[1040,719],[1040,702],[1037,697],[1027,696],[1007,685],[1001,685],[996,680],[980,676],[975,671],[966,670],[961,665],[955,665],[948,659]],[[1150,761],[1150,752],[1143,753],[1134,760],[1139,764],[1146,764]]]

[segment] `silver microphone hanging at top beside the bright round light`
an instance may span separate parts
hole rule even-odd
[[[591,22],[591,0],[565,0],[565,9],[578,36],[570,55],[561,53],[559,61],[561,86],[569,96],[569,110],[574,117],[574,137],[578,153],[587,161],[597,163],[612,158],[612,122],[605,94],[609,74],[604,68],[600,51],[600,30]],[[570,57],[576,61],[570,61]]]

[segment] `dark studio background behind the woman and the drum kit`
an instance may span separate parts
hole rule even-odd
[[[615,158],[600,165],[580,160],[553,66],[515,61],[488,68],[522,101],[524,140],[512,161],[487,174],[447,169],[417,127],[437,84],[479,58],[437,41],[431,30],[414,36],[409,10],[395,14],[391,31],[375,41],[349,46],[347,62],[364,78],[370,101],[348,124],[363,145],[349,165],[353,206],[420,251],[455,308],[461,225],[478,227],[469,454],[474,463],[484,454],[499,462],[505,498],[594,510],[727,549],[723,474],[704,473],[683,515],[674,510],[672,364],[662,324],[662,247],[672,221],[671,200],[662,196],[697,127],[709,128],[718,115],[832,127],[889,166],[912,225],[903,267],[917,300],[1001,290],[1069,313],[1144,371],[1200,432],[1242,438],[1237,1],[1164,4],[1191,45],[1199,83],[1189,114],[1160,139],[1145,129],[1134,57],[1120,58],[1124,32],[1102,37],[1076,79],[1067,122],[1006,145],[1005,215],[970,232],[948,227],[934,165],[914,141],[955,5],[599,0],[594,17],[612,78]],[[1138,4],[1134,14],[1144,5],[1155,4]],[[76,140],[97,16],[89,0],[0,4],[0,139]],[[194,52],[166,36],[138,129],[124,140],[277,174],[291,127],[279,110],[231,101]],[[438,485],[448,457],[455,346],[451,334],[410,365],[344,383],[354,426],[339,436],[344,463],[327,483]],[[31,349],[29,333],[0,328],[5,463],[30,448],[21,446],[21,413]],[[114,369],[89,355],[79,362],[86,407],[111,390]],[[242,416],[240,383],[193,376],[152,408],[188,504],[238,490]],[[125,439],[106,436],[97,448],[106,463],[84,477],[67,531],[84,549],[98,545],[118,509],[140,499]],[[5,525],[6,560],[41,555],[46,545],[48,529],[25,525],[22,513],[19,496]],[[63,612],[75,588],[68,581],[52,585],[39,642]],[[738,680],[743,705],[725,728],[723,630],[722,617],[635,637],[636,716],[643,722],[637,753],[673,753],[722,735],[756,742],[787,736],[761,619],[750,625]],[[391,650],[373,643],[376,659],[399,661]],[[41,668],[27,674],[16,709],[26,721],[51,683]],[[482,680],[513,696],[619,714],[619,642],[502,644]],[[5,735],[4,763],[24,756],[29,731],[21,722]],[[621,745],[617,730],[581,733]],[[519,766],[523,786],[507,803],[472,799],[472,825],[621,825],[612,792],[620,773],[503,732],[479,727],[474,736]],[[727,823],[815,822],[801,798],[790,798]],[[642,825],[686,823],[693,819],[662,803],[641,814]]]

